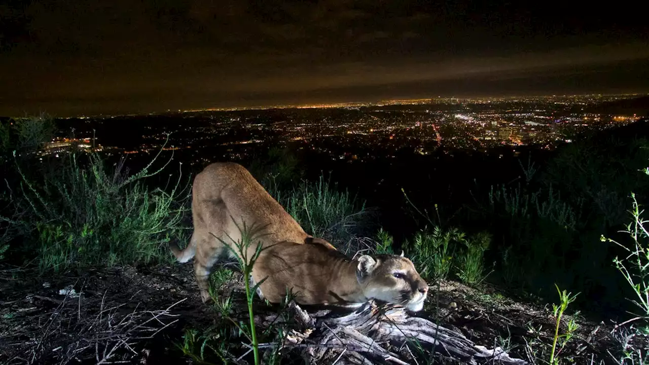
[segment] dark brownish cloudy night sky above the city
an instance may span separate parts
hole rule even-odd
[[[0,116],[648,92],[641,3],[5,0]]]

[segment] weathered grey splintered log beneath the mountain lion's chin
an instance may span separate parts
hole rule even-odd
[[[332,310],[308,313],[289,303],[294,326],[282,347],[300,347],[310,364],[415,364],[413,349],[461,364],[528,364],[501,348],[487,349],[463,334],[413,317],[402,307],[383,307],[369,301],[353,312]],[[281,323],[277,314],[256,316],[258,325]],[[297,325],[297,326],[296,326]]]

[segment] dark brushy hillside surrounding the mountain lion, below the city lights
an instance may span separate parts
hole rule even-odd
[[[350,257],[403,249],[431,285],[414,316],[530,363],[631,364],[649,348],[647,271],[635,266],[648,263],[646,218],[629,196],[649,197],[646,123],[551,153],[440,151],[327,166],[285,151],[248,168],[308,233]],[[178,173],[182,165],[160,155],[129,171],[81,151],[43,164],[30,153],[37,145],[4,147],[1,362],[254,362],[241,273],[215,270],[221,300],[203,305],[191,264],[171,260],[169,242],[185,245],[191,234],[193,177]],[[8,164],[14,149],[21,157]],[[620,233],[630,223],[639,231]],[[293,313],[257,297],[254,310]],[[308,346],[293,343],[282,356],[272,346],[295,338],[296,323],[257,325],[266,362],[300,363],[295,355]],[[440,354],[412,342],[382,346],[413,364]]]

